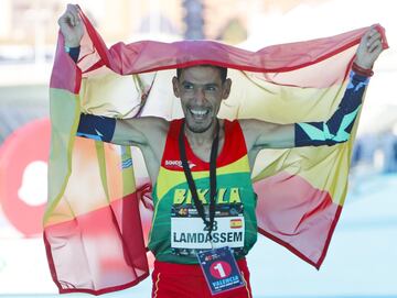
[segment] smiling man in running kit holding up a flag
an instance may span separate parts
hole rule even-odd
[[[65,49],[76,62],[84,32],[77,8],[67,5],[58,24]],[[245,255],[256,242],[256,195],[250,169],[258,152],[346,142],[371,69],[382,51],[380,34],[369,30],[358,46],[339,109],[324,122],[276,124],[218,119],[232,80],[227,69],[211,65],[179,69],[172,79],[173,92],[184,113],[182,120],[169,122],[155,117],[115,120],[82,114],[78,135],[142,151],[154,185],[149,241],[157,258],[153,297],[211,297],[197,254],[210,251],[214,257],[225,246],[233,249],[232,257],[237,260],[243,284],[217,297],[251,297]],[[224,267],[214,268],[225,275]]]

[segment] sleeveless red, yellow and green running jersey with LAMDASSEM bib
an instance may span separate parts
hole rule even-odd
[[[161,262],[197,264],[196,253],[211,247],[230,246],[235,257],[245,256],[257,240],[250,168],[238,121],[224,121],[224,145],[216,159],[215,221],[210,241],[204,222],[194,206],[179,152],[182,120],[173,120],[157,183],[153,187],[154,213],[149,250]],[[210,163],[193,153],[185,137],[186,158],[208,218]],[[208,153],[210,154],[210,153]]]

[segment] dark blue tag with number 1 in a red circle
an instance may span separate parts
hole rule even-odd
[[[197,253],[197,257],[212,295],[245,286],[230,247]]]

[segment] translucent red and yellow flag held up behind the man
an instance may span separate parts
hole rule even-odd
[[[104,294],[149,275],[140,201],[149,189],[136,148],[76,137],[81,112],[114,118],[181,118],[175,68],[229,68],[232,93],[219,117],[275,123],[328,120],[368,27],[248,52],[210,41],[107,48],[81,12],[86,32],[75,64],[60,33],[51,77],[52,141],[44,242],[60,293]],[[378,25],[384,34],[383,27]],[[383,36],[384,47],[387,47]],[[334,146],[264,150],[253,169],[258,230],[320,267],[342,211],[354,132]]]

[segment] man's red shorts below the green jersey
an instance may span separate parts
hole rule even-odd
[[[243,258],[237,265],[246,286],[212,296],[200,265],[155,261],[152,298],[251,298],[247,262]]]

